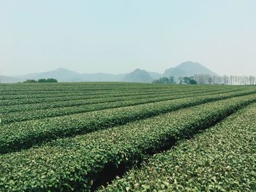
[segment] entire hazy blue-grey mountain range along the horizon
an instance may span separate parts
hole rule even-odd
[[[152,82],[159,79],[159,77],[191,77],[195,74],[209,74],[217,75],[205,66],[187,61],[179,64],[176,67],[166,69],[163,74],[157,72],[147,72],[142,69],[135,69],[135,71],[127,74],[80,74],[68,69],[59,68],[50,72],[40,72],[34,74],[26,74],[22,76],[7,77],[0,76],[1,82],[23,82],[24,80],[38,80],[46,78],[55,78],[59,82]]]

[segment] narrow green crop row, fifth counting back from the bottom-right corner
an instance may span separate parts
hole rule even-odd
[[[219,91],[219,90],[213,90]],[[223,91],[223,90],[220,90]],[[224,91],[233,91],[230,89]],[[157,96],[173,96],[173,95],[181,95],[184,93],[206,93],[211,91],[171,91],[171,92],[158,92],[158,93],[117,93],[111,95],[96,95],[96,96],[72,96],[72,97],[65,97],[65,98],[53,98],[53,99],[43,99],[42,101],[37,101],[37,103],[31,104],[14,104],[10,105],[9,102],[7,105],[2,106],[0,112],[10,112],[15,110],[37,110],[37,109],[48,109],[48,108],[56,108],[56,107],[72,107],[82,104],[93,104],[93,103],[102,103],[107,101],[121,101],[126,99],[132,98],[148,98],[148,97],[157,97]],[[13,104],[13,101],[11,101]],[[16,102],[22,102],[15,101]]]

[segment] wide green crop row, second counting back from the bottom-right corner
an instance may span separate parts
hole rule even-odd
[[[170,143],[208,128],[255,100],[255,95],[250,95],[215,101],[0,155],[0,189],[89,191],[101,184],[102,174],[108,177],[120,166],[136,164],[145,154],[170,147]]]

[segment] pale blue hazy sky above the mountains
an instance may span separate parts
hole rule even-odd
[[[256,76],[256,1],[0,0],[1,74],[163,72],[183,61]]]

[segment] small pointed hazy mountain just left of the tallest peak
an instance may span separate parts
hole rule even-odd
[[[135,71],[126,74],[122,81],[124,81],[124,82],[152,82],[153,78],[145,70],[135,69]]]

